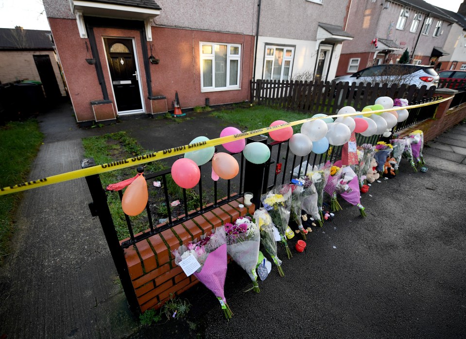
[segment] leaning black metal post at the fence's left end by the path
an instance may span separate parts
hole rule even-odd
[[[95,166],[93,158],[81,160],[81,168],[88,168]],[[124,258],[124,250],[121,248],[118,240],[117,231],[113,224],[112,215],[108,209],[107,196],[102,187],[102,182],[98,174],[86,177],[87,187],[92,197],[92,202],[89,203],[89,209],[92,216],[98,216],[99,221],[104,230],[105,240],[107,241],[110,254],[112,255],[113,262],[117,268],[118,275],[120,276],[121,286],[123,287],[124,294],[128,300],[130,310],[134,315],[140,313],[138,298],[134,291],[131,277],[128,272],[128,266]]]

